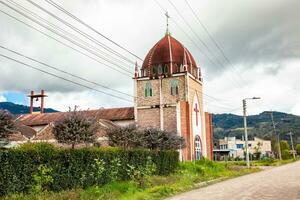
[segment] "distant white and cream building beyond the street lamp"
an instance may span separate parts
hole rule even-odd
[[[228,156],[232,158],[245,157],[245,140],[237,139],[236,137],[225,137],[219,140],[218,150],[228,152]],[[261,157],[269,156],[272,153],[271,141],[263,140],[254,137],[253,140],[248,140],[248,149],[251,155],[259,153]],[[215,150],[214,152],[218,152]]]

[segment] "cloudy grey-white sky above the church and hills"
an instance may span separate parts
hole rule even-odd
[[[0,4],[0,11],[63,41],[73,49],[0,12],[2,47],[98,84],[96,86],[75,79],[0,48],[2,55],[88,87],[44,74],[0,56],[0,102],[11,101],[28,105],[27,94],[31,90],[39,92],[44,89],[48,95],[45,106],[60,111],[66,111],[75,105],[80,109],[133,105],[130,95],[134,94],[132,80],[134,62],[137,61],[142,65],[141,60],[63,14],[46,0],[34,2],[80,29],[84,34],[89,34],[96,41],[84,38],[27,0],[5,2],[18,10],[21,7],[16,6],[23,6],[60,27],[61,30],[70,32],[73,34],[72,39],[77,42],[84,41],[94,50],[105,52],[106,50],[96,42],[105,44],[130,62],[122,58],[116,60],[115,57],[112,58],[110,52],[106,52],[105,55],[110,54],[105,56],[106,60],[101,60]],[[299,0],[64,0],[56,2],[98,32],[141,58],[144,58],[151,47],[164,36],[166,31],[164,12],[167,10],[171,17],[169,27],[171,35],[189,49],[201,68],[206,111],[242,114],[242,99],[258,96],[261,100],[248,101],[249,114],[276,110],[300,115]],[[191,5],[198,18],[193,15],[186,2]],[[218,47],[198,19],[205,25]],[[89,57],[74,49],[83,51]],[[131,75],[128,74],[129,72],[119,73],[120,70],[113,70],[111,68],[113,64],[107,63],[107,60],[121,65]],[[99,85],[128,95],[116,93]],[[114,97],[101,92],[113,94]],[[35,104],[38,106],[38,102]]]

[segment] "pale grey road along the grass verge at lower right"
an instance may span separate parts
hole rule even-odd
[[[223,181],[169,200],[201,199],[300,200],[300,161]]]

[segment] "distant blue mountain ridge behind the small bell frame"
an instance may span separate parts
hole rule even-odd
[[[0,102],[0,110],[8,110],[10,113],[14,115],[18,114],[28,114],[29,113],[29,107],[24,106],[24,105],[19,105],[19,104],[14,104],[11,102]],[[39,111],[39,107],[34,107],[34,111]],[[46,113],[50,112],[57,112],[56,110],[52,108],[45,108]]]

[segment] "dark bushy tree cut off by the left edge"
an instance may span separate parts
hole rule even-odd
[[[13,116],[8,111],[0,110],[0,139],[7,139],[14,131],[16,125]]]

